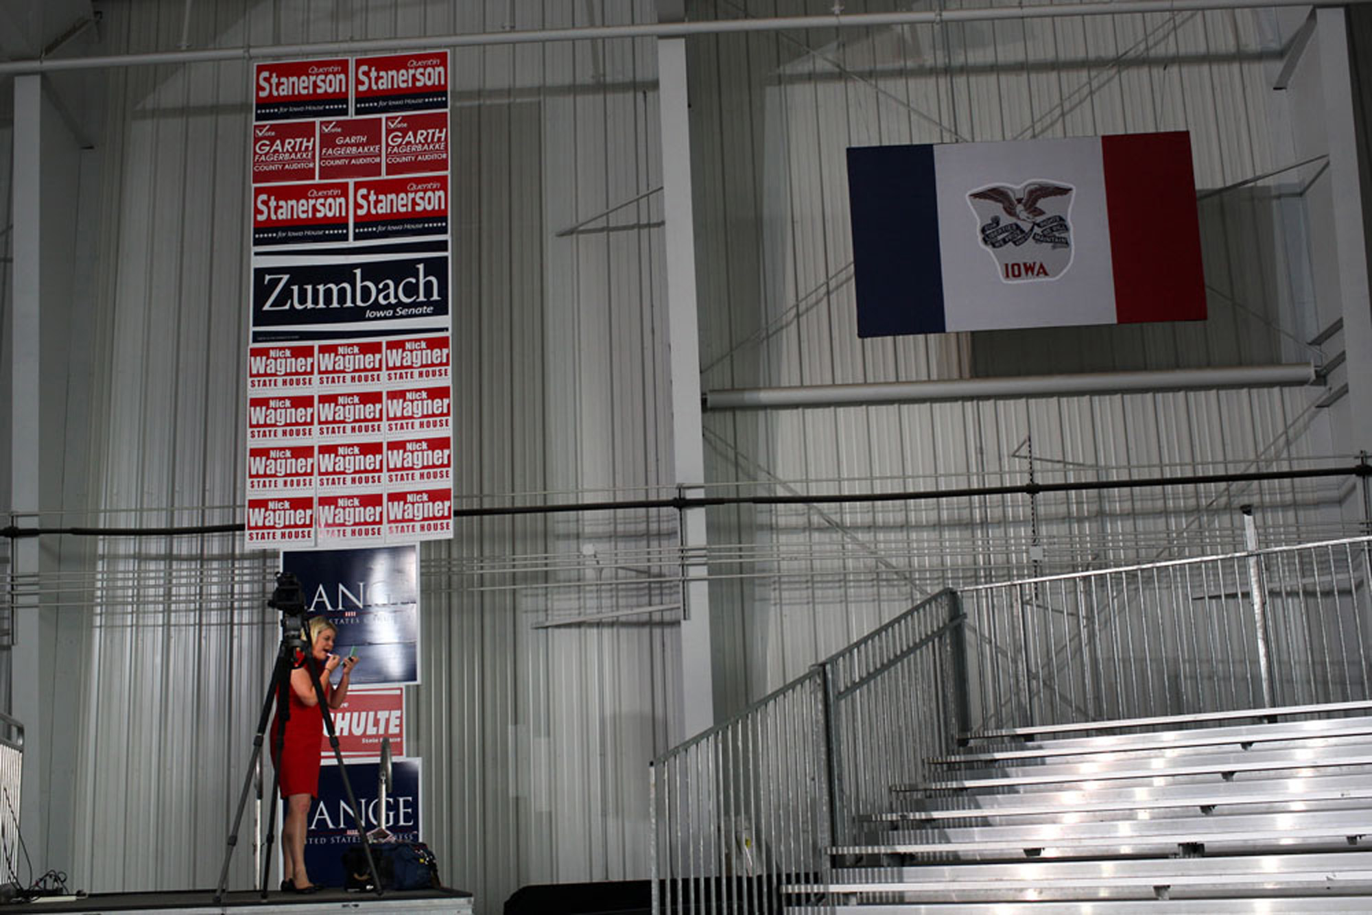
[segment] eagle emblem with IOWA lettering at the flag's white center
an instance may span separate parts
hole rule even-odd
[[[1072,266],[1072,198],[1062,181],[992,184],[967,193],[981,247],[1003,283],[1056,280]]]

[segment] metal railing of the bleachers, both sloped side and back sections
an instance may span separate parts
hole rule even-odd
[[[1369,701],[1369,536],[940,591],[653,760],[653,912],[781,912],[962,733]]]

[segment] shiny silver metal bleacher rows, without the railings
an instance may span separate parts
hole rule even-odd
[[[1372,702],[982,731],[927,763],[786,912],[1372,912]]]

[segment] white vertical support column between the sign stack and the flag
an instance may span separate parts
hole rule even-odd
[[[704,495],[705,444],[700,412],[700,336],[696,314],[696,237],[691,215],[690,125],[686,103],[686,40],[657,43],[657,85],[661,106],[663,210],[667,248],[668,346],[672,377],[672,458],[678,492]],[[683,560],[681,628],[685,734],[715,723],[711,674],[709,586],[704,556],[705,509],[681,513]]]

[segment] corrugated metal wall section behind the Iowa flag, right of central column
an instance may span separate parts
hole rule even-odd
[[[845,12],[886,4],[845,3]],[[981,4],[954,3],[951,7]],[[820,15],[702,1],[697,18]],[[720,36],[691,45],[702,387],[1323,361],[1301,176],[1270,89],[1269,14],[1159,12]],[[1209,320],[859,340],[844,150],[1191,132]],[[1329,455],[1323,390],[708,413],[709,473],[862,492],[1279,469]],[[1351,464],[1353,458],[1346,458]],[[1346,487],[1345,487],[1346,488]],[[716,678],[738,708],[945,582],[996,580],[1342,530],[1334,484],[1192,487],[713,513],[756,578],[716,580]],[[1323,525],[1323,527],[1321,527]],[[822,575],[816,575],[822,573]]]

